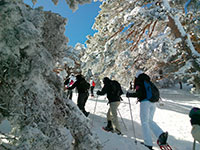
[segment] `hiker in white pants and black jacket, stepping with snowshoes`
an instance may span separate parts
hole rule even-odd
[[[142,70],[138,70],[135,75],[134,80],[134,93],[126,93],[126,97],[137,97],[140,102],[140,120],[142,125],[142,132],[144,138],[144,145],[150,150],[153,149],[153,142],[151,137],[151,130],[154,135],[158,138],[159,144],[166,144],[168,133],[163,132],[163,130],[158,126],[156,122],[153,121],[154,113],[156,110],[156,105],[147,99],[146,89],[144,81],[150,82],[150,77],[143,73]]]

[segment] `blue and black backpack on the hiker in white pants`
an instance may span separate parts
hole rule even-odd
[[[144,81],[144,86],[146,89],[147,99],[153,103],[158,102],[160,99],[160,92],[158,88],[155,86],[155,84],[153,84],[151,81],[150,82]]]

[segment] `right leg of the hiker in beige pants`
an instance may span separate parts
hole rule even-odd
[[[119,107],[119,105],[120,105],[120,101],[110,103],[110,111],[112,114],[112,123],[113,123],[114,129],[116,131],[121,132],[118,116],[117,116],[117,108]]]

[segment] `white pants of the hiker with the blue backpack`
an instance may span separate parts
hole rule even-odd
[[[142,124],[143,138],[144,143],[148,146],[153,146],[151,130],[157,138],[161,133],[163,133],[163,130],[153,121],[155,110],[155,103],[147,100],[140,103],[140,120]]]

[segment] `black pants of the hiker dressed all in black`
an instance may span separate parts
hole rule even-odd
[[[79,108],[84,114],[86,114],[85,104],[86,104],[86,102],[87,102],[88,97],[89,97],[89,93],[88,93],[88,92],[85,92],[85,93],[78,93],[77,105],[78,105],[78,108]]]

